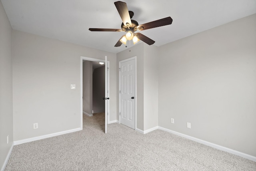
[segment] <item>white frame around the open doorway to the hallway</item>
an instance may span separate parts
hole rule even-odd
[[[80,127],[83,129],[83,60],[86,61],[92,61],[92,62],[106,62],[105,60],[100,60],[96,58],[88,58],[85,56],[80,56]],[[106,64],[105,64],[106,65]],[[110,62],[108,61],[108,68],[110,66]],[[110,88],[109,88],[109,76],[110,71],[108,70],[108,94],[110,94]],[[110,118],[110,103],[108,103],[108,123]]]

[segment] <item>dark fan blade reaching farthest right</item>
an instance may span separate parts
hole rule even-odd
[[[141,24],[141,25],[137,26],[137,29],[138,30],[147,30],[147,29],[150,29],[150,28],[166,26],[166,25],[169,25],[169,24],[172,24],[172,18],[171,17],[166,17],[166,18],[162,18],[160,20],[156,20],[156,21],[145,23],[145,24]]]

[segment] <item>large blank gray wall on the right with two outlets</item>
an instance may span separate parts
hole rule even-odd
[[[159,126],[256,156],[256,14],[161,46],[159,64]]]

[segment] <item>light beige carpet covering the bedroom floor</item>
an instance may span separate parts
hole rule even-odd
[[[118,123],[104,133],[104,113],[84,115],[84,129],[15,145],[6,171],[256,171],[256,162],[155,130]]]

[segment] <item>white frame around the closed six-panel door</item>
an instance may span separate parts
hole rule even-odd
[[[135,100],[135,113],[134,113],[134,125],[135,125],[135,131],[137,130],[137,56],[134,56],[134,57],[132,57],[132,58],[128,58],[128,59],[125,59],[125,60],[122,60],[122,61],[119,61],[119,65],[118,65],[118,68],[119,68],[119,91],[118,91],[118,94],[119,94],[119,111],[118,111],[118,113],[119,113],[119,123],[121,123],[121,115],[120,115],[120,113],[121,113],[121,94],[120,94],[120,92],[121,92],[121,79],[120,79],[120,76],[121,76],[121,69],[120,69],[120,67],[121,67],[121,63],[122,62],[127,62],[127,61],[130,61],[130,60],[135,60],[135,98],[134,98],[134,100]]]

